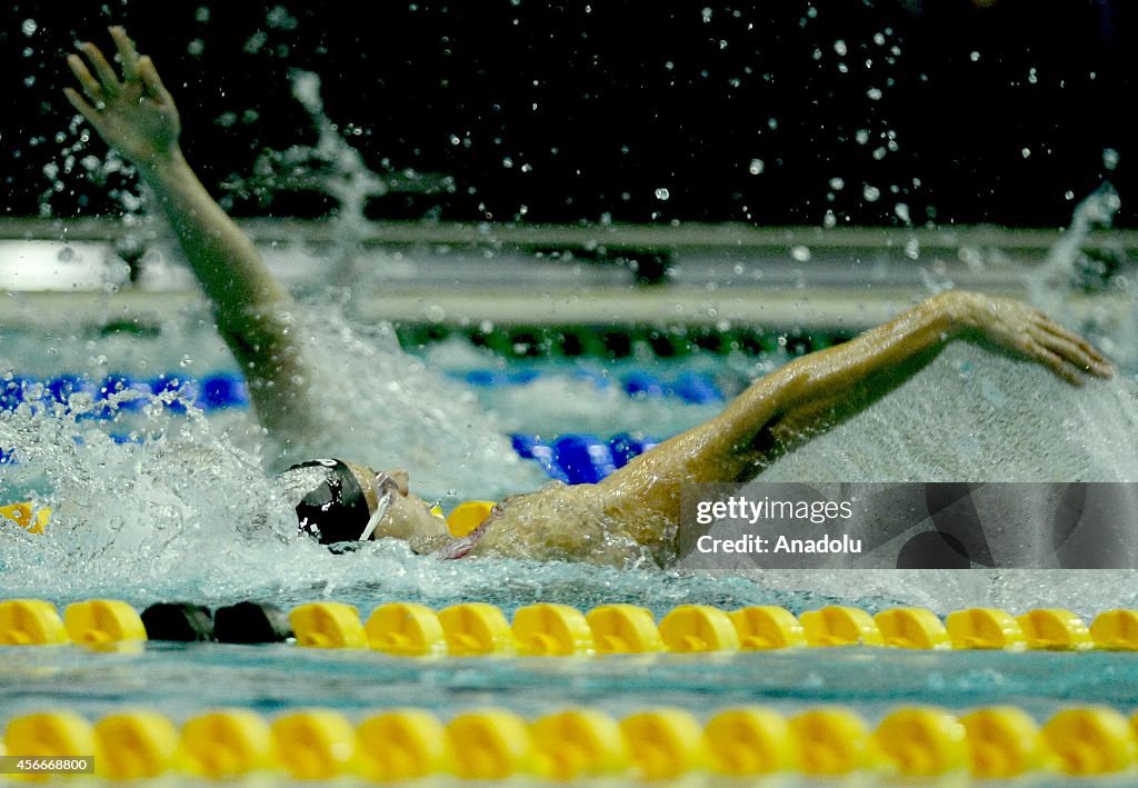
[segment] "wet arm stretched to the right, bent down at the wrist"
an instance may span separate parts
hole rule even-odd
[[[926,366],[955,338],[1012,351],[1082,383],[1113,367],[1086,339],[1008,298],[950,290],[859,337],[797,359],[757,380],[716,418],[661,443],[601,487],[618,508],[651,508],[675,522],[683,482],[733,482],[781,445],[861,410]]]

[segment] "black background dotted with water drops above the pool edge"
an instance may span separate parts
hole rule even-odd
[[[1132,5],[19,2],[0,10],[3,208],[122,211],[116,177],[81,166],[44,197],[44,166],[66,169],[76,140],[63,54],[109,47],[114,22],[155,58],[188,158],[238,215],[335,207],[241,183],[266,148],[315,141],[290,95],[290,69],[308,69],[369,167],[453,179],[371,199],[376,219],[819,225],[830,210],[839,225],[898,225],[904,203],[915,224],[1059,227],[1113,148],[1119,223],[1135,225]]]

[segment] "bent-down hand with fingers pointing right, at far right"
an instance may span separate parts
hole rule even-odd
[[[1100,378],[1114,375],[1114,366],[1089,342],[1028,304],[964,290],[940,297],[950,299],[950,309],[966,329],[1041,363],[1067,383],[1081,386],[1087,374]]]

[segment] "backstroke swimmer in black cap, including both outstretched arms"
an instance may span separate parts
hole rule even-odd
[[[68,88],[67,98],[152,189],[246,370],[262,422],[271,430],[296,428],[315,396],[296,375],[303,359],[289,339],[288,315],[297,305],[182,156],[178,109],[154,63],[138,55],[121,27],[110,34],[122,77],[84,43],[85,61],[68,58],[82,93]],[[300,499],[302,531],[324,543],[394,536],[446,558],[667,566],[676,557],[682,484],[753,478],[778,454],[897,388],[956,339],[1042,364],[1074,385],[1113,374],[1088,342],[1026,304],[949,290],[756,380],[720,414],[597,484],[554,483],[506,498],[462,539],[447,537],[443,520],[409,491],[401,471],[316,460],[286,471],[282,482]]]

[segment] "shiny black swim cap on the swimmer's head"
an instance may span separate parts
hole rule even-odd
[[[295,465],[282,474],[318,473],[313,486],[296,504],[300,533],[321,544],[355,542],[363,535],[371,519],[368,495],[352,467],[343,460],[310,460]]]

